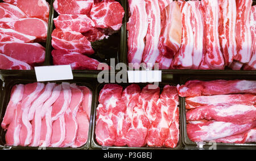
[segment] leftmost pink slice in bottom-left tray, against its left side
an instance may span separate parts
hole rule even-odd
[[[8,128],[8,125],[11,124],[11,122],[13,121],[13,118],[15,116],[13,114],[15,112],[15,109],[17,108],[18,103],[20,103],[20,101],[22,100],[23,93],[23,84],[15,85],[11,90],[11,98],[9,104],[7,105],[5,116],[3,117],[3,121],[1,124],[3,129],[6,130]]]

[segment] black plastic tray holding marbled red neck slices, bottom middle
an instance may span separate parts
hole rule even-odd
[[[123,90],[125,90],[125,88],[127,86],[129,86],[130,84],[132,83],[121,83],[119,84],[120,86],[123,87]],[[139,86],[141,87],[141,89],[143,87],[145,87],[147,85],[147,83],[137,83],[139,84]],[[163,90],[163,87],[165,85],[172,85],[172,86],[176,86],[177,85],[177,82],[175,82],[174,80],[169,80],[169,81],[166,81],[166,82],[162,82],[162,83],[159,83],[159,87],[160,87],[160,90],[162,92]],[[109,150],[181,150],[184,148],[183,146],[183,141],[182,141],[182,137],[181,137],[181,133],[182,133],[182,129],[181,129],[181,109],[179,108],[179,112],[180,112],[180,137],[179,137],[179,142],[177,143],[177,147],[175,147],[174,149],[171,149],[171,148],[166,148],[166,147],[116,147],[116,146],[113,146],[113,147],[102,147],[101,145],[99,145],[96,141],[96,134],[95,134],[95,130],[96,130],[96,111],[97,111],[97,107],[98,107],[98,95],[100,94],[100,91],[101,89],[104,87],[105,84],[98,84],[97,85],[97,88],[96,88],[96,92],[95,92],[95,101],[94,101],[94,115],[93,115],[93,126],[92,126],[92,141],[91,141],[91,148],[92,149],[109,149]]]

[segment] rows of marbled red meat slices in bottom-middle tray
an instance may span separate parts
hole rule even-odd
[[[170,147],[179,142],[179,97],[176,87],[137,84],[123,90],[106,84],[96,113],[96,140],[101,146]]]

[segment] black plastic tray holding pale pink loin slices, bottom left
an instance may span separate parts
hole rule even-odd
[[[33,83],[36,82],[36,79],[31,76],[31,79],[24,79],[24,78],[6,78],[5,79],[5,87],[1,89],[0,93],[0,99],[3,101],[0,101],[0,122],[3,120],[3,116],[5,115],[7,105],[10,100],[10,93],[11,93],[11,88],[15,86],[15,84],[27,84],[27,83]],[[89,87],[90,90],[92,90],[92,109],[90,111],[90,120],[89,120],[89,132],[88,132],[88,141],[86,144],[82,147],[79,148],[72,148],[72,147],[46,147],[48,150],[88,150],[90,148],[90,141],[91,141],[91,129],[92,129],[92,119],[93,119],[93,111],[94,111],[94,88],[95,84],[92,83],[93,81],[88,79],[87,81],[81,80],[81,79],[74,79],[73,81],[53,81],[55,83],[61,83],[61,82],[69,82],[69,83],[76,83],[79,86],[86,86]],[[1,85],[1,82],[0,82]],[[0,127],[0,149],[14,149],[14,150],[37,150],[39,147],[22,147],[22,146],[5,146],[5,134],[6,132]]]

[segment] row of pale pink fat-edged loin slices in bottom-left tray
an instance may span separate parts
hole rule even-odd
[[[18,84],[11,91],[1,124],[7,130],[6,145],[81,147],[88,139],[91,104],[88,87]]]

